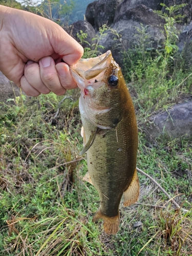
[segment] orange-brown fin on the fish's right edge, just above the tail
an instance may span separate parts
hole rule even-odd
[[[135,173],[129,187],[124,191],[124,206],[130,206],[137,202],[139,198],[139,179],[137,176],[137,170],[135,169]]]

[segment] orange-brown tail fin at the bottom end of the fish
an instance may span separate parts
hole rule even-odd
[[[107,234],[116,234],[119,229],[119,212],[117,216],[114,217],[108,217],[101,213],[100,208],[97,210],[96,214],[93,217],[93,222],[102,219],[104,221],[103,223],[103,229],[105,233]]]

